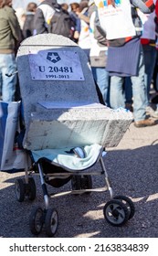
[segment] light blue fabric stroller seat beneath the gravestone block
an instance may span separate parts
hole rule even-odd
[[[79,158],[75,154],[68,153],[72,148],[62,149],[43,149],[32,151],[35,162],[40,158],[45,157],[52,161],[52,164],[59,165],[70,171],[79,171],[89,168],[94,165],[102,155],[102,146],[99,144],[92,144],[84,146],[86,156]]]

